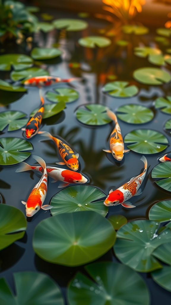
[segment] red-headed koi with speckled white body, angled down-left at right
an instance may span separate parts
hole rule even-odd
[[[130,202],[126,202],[126,200],[130,199],[132,196],[138,196],[142,193],[141,188],[139,187],[146,175],[147,159],[145,158],[145,156],[142,156],[140,160],[144,162],[144,170],[142,174],[131,178],[130,181],[124,183],[124,185],[122,185],[120,188],[117,188],[115,191],[111,189],[109,195],[104,201],[105,206],[116,206],[117,204],[121,204],[126,208],[135,207]]]

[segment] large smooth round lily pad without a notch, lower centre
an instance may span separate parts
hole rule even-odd
[[[62,213],[37,225],[33,249],[48,262],[79,266],[106,253],[113,246],[115,236],[110,222],[99,213]]]

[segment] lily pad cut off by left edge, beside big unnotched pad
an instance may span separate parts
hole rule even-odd
[[[26,228],[27,222],[23,212],[13,206],[0,204],[0,250],[21,239]]]

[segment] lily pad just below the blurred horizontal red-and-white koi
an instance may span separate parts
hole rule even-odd
[[[58,103],[61,101],[65,102],[65,103],[70,103],[79,98],[79,93],[77,91],[75,91],[74,89],[55,88],[54,91],[56,91],[56,93],[54,93],[52,91],[48,91],[46,93],[46,98],[49,101],[54,102],[54,103]]]

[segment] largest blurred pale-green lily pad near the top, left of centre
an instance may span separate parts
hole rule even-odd
[[[81,31],[88,27],[88,23],[84,20],[71,18],[56,19],[53,24],[57,29],[65,29],[66,31]]]

